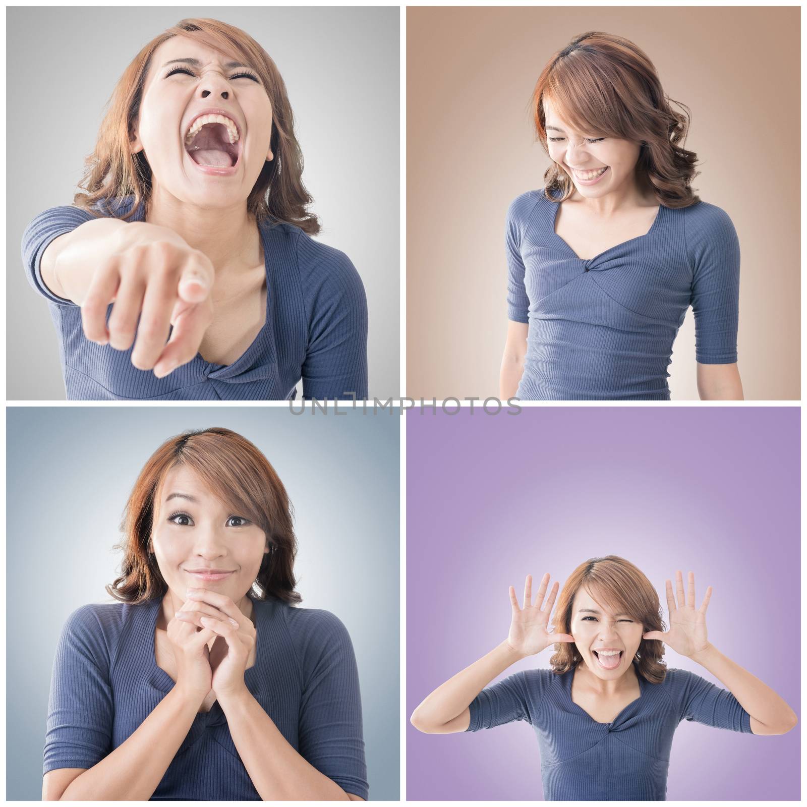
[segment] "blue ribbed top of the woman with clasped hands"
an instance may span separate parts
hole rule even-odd
[[[345,792],[367,798],[362,703],[350,637],[337,617],[255,600],[256,659],[249,692],[283,737]],[[90,604],[65,623],[53,663],[44,773],[93,767],[174,688],[157,667],[161,600]],[[260,801],[219,702],[194,718],[152,801]]]

